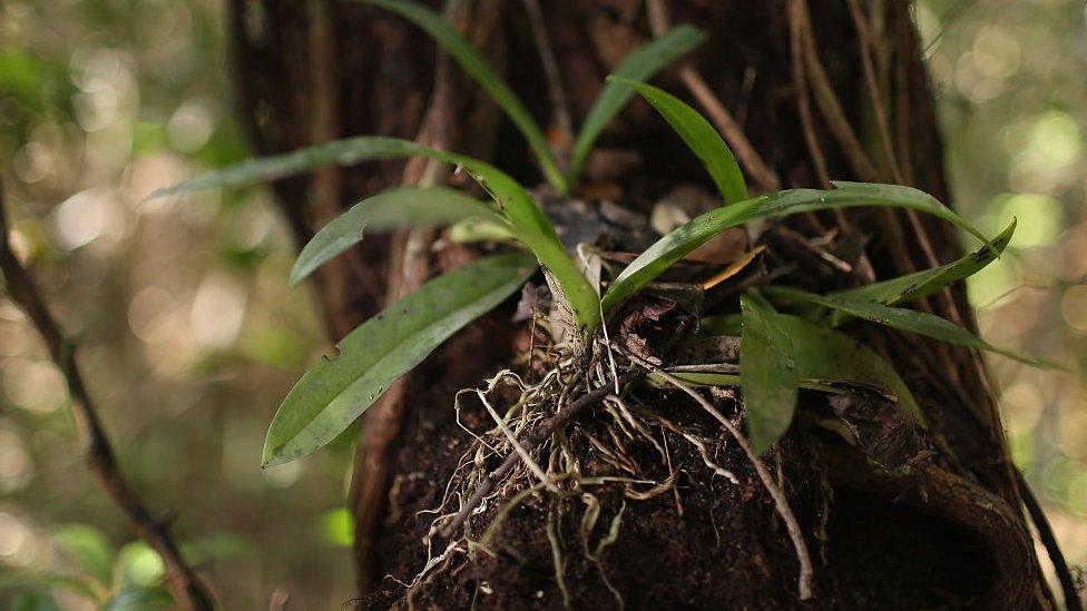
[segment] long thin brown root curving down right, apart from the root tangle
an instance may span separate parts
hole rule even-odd
[[[656,365],[638,357],[635,354],[625,353],[627,357],[637,362],[647,369],[654,372],[655,374],[662,376],[664,380],[668,381],[672,385],[687,393],[692,398],[702,405],[702,408],[709,413],[722,426],[728,431],[728,434],[736,440],[740,447],[747,455],[747,460],[754,465],[755,472],[758,474],[758,479],[762,480],[763,485],[766,487],[766,492],[774,500],[774,506],[777,509],[777,514],[781,515],[782,521],[785,522],[785,530],[789,531],[789,538],[793,542],[793,548],[796,550],[796,560],[800,562],[800,576],[797,578],[797,591],[800,600],[807,600],[812,598],[812,575],[814,573],[812,569],[812,558],[807,553],[807,542],[804,541],[804,533],[801,532],[800,522],[796,521],[796,516],[793,514],[793,509],[789,506],[789,499],[785,497],[785,491],[777,485],[774,481],[774,476],[766,469],[766,464],[763,463],[758,454],[755,453],[751,447],[751,443],[747,442],[747,437],[736,428],[732,422],[728,421],[712,403],[706,401],[706,397],[702,396],[698,391],[695,391],[687,384],[685,384],[678,377],[669,374],[668,372],[657,367]]]

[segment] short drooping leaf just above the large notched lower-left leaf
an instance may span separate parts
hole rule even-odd
[[[499,225],[506,220],[478,199],[447,187],[400,187],[368,197],[332,219],[298,254],[291,269],[291,286],[314,269],[362,242],[363,231],[396,227],[445,225],[466,218],[486,218]]]

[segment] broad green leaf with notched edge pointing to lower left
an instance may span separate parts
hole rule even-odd
[[[283,400],[264,442],[264,466],[325,445],[400,376],[513,294],[536,270],[522,254],[497,255],[439,276],[347,334]]]

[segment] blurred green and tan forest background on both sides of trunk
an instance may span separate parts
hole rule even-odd
[[[237,161],[218,0],[0,3],[0,167],[16,248],[84,367],[125,473],[227,609],[277,590],[307,609],[354,592],[341,511],[351,443],[268,471],[280,400],[329,345],[295,245],[261,189],[140,204]],[[922,0],[957,206],[1006,254],[971,278],[982,334],[1076,363],[987,357],[1015,459],[1069,562],[1087,563],[1087,6]],[[757,77],[756,77],[757,78]],[[353,438],[349,434],[345,437]],[[1044,556],[1044,554],[1042,554]],[[153,585],[160,563],[95,486],[63,382],[0,295],[0,607],[30,574]],[[62,608],[88,599],[51,590]],[[29,600],[29,599],[23,599]],[[43,599],[41,599],[43,600]]]

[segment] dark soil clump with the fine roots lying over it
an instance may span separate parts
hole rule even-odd
[[[425,367],[459,363],[472,339]],[[439,402],[454,388],[418,391],[399,456],[415,471],[393,483],[388,528],[376,541],[388,576],[363,608],[969,608],[991,585],[983,541],[946,516],[832,483],[819,449],[841,440],[797,425],[765,460],[815,564],[815,595],[799,600],[794,546],[751,461],[687,395],[645,384],[626,395],[636,424],[597,404],[533,454],[541,469],[561,463],[572,474],[555,483],[557,491],[519,464],[449,549],[435,518],[448,520],[471,493],[466,473],[487,473],[508,446],[478,459],[468,431],[494,427],[481,401],[462,395],[462,428],[442,412],[448,400]],[[507,387],[487,396],[505,413],[518,394]],[[713,400],[740,424],[734,395]],[[831,413],[825,400],[804,401],[823,401],[806,408]],[[458,486],[461,495],[450,492]]]

